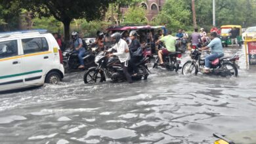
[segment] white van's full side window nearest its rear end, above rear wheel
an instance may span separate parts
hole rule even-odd
[[[35,52],[45,52],[49,50],[45,37],[35,37],[30,39],[22,39],[22,47],[24,54]]]

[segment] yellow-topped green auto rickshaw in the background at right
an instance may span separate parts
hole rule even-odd
[[[242,26],[226,25],[226,26],[221,26],[221,35],[219,37],[221,39],[221,43],[223,43],[223,47],[228,47],[228,45],[232,45],[229,32],[234,27],[239,29],[239,33],[236,39],[238,39],[238,44],[240,46],[242,45]]]

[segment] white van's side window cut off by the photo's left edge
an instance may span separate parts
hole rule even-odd
[[[0,59],[18,55],[16,40],[0,42]]]

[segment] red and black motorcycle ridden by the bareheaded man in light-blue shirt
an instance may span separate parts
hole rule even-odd
[[[183,75],[197,75],[200,71],[203,73],[203,67],[205,65],[205,53],[200,52],[198,50],[198,46],[192,46],[192,52],[190,54],[190,58],[192,60],[188,60],[188,62],[184,63],[182,66],[182,74]],[[208,53],[207,53],[208,54]],[[221,58],[217,58],[211,62],[210,72],[213,75],[221,75],[222,77],[226,76],[238,76],[238,69],[236,65],[234,65],[235,61],[238,61],[240,56],[238,53],[234,54],[234,56],[223,56]]]

